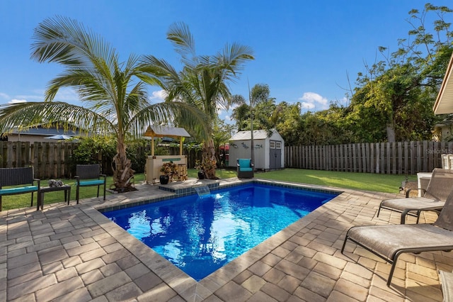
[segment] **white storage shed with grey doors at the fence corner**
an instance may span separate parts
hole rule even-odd
[[[239,131],[229,139],[229,167],[236,167],[236,159],[251,158],[251,147],[255,150],[255,169],[274,170],[285,167],[285,141],[277,132],[271,130],[253,130],[253,146],[251,131]]]

